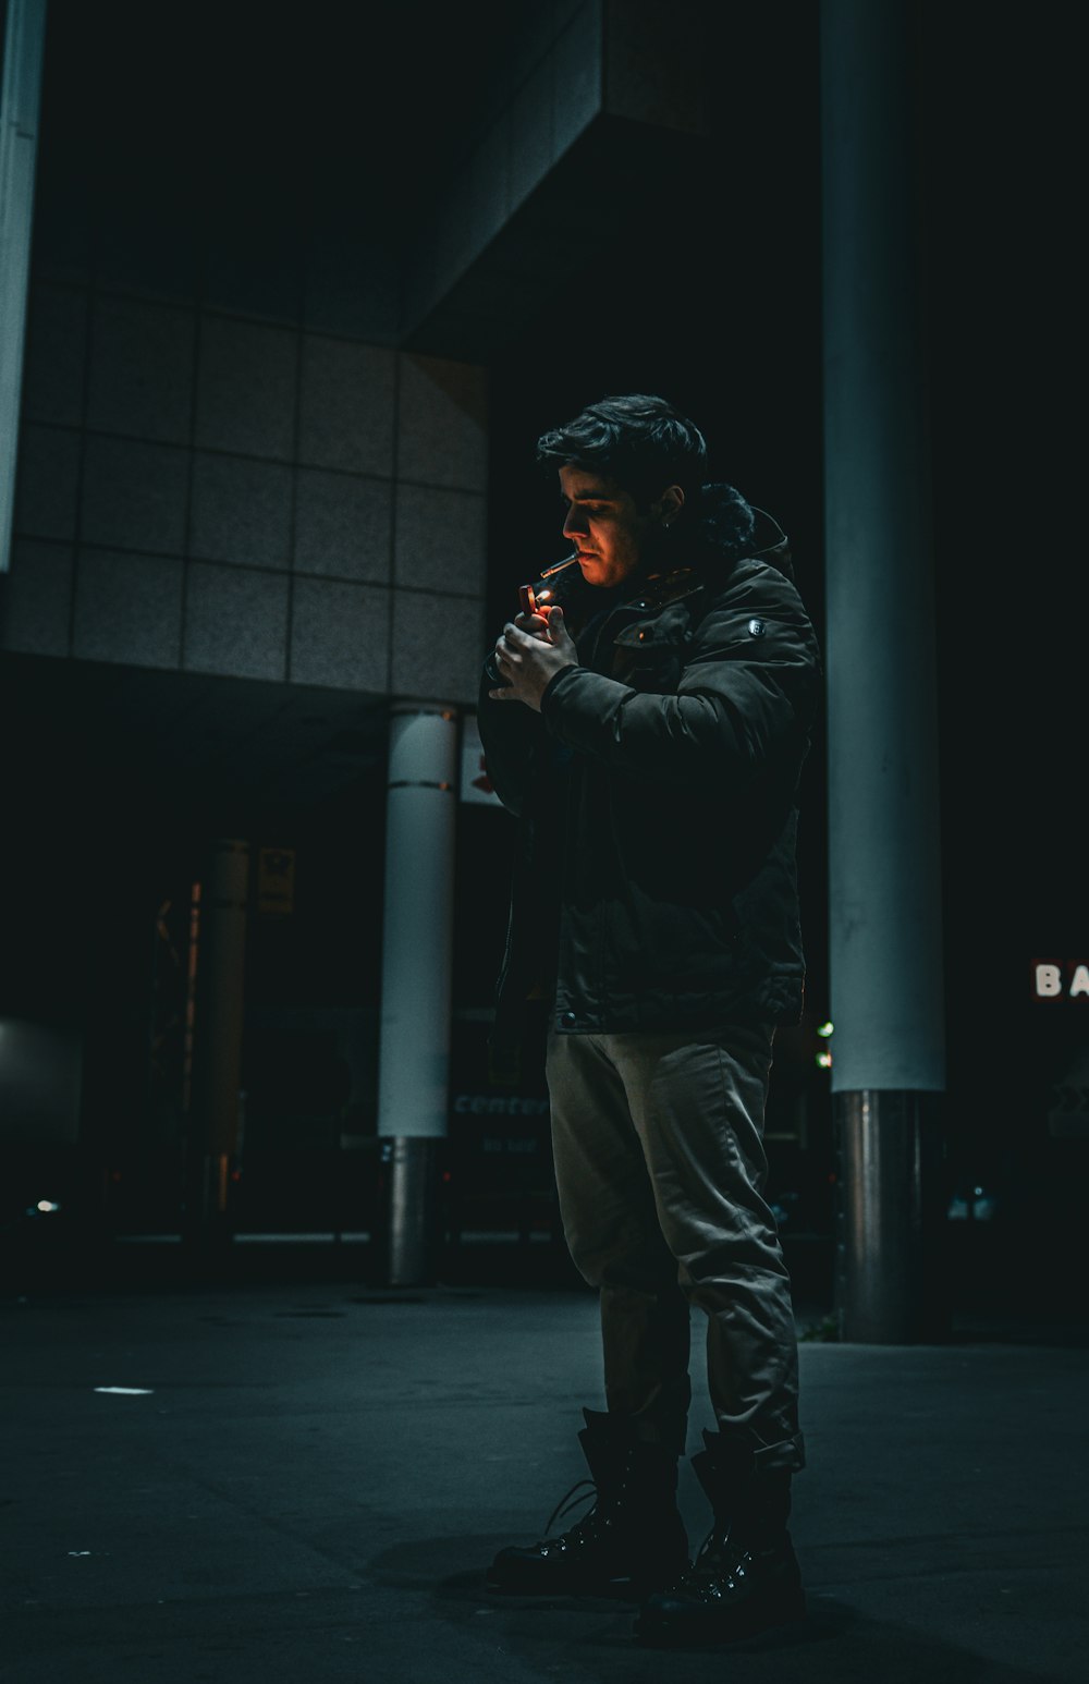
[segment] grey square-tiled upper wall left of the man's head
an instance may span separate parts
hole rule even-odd
[[[39,296],[61,332],[27,401],[67,424],[24,419],[3,647],[475,701],[481,369],[91,288]],[[471,626],[456,653],[446,628]]]

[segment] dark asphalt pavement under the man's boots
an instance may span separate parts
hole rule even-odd
[[[384,1288],[365,1248],[251,1246],[194,1273],[10,1276],[3,1620],[12,1684],[1044,1684],[1087,1676],[1089,1337],[986,1314],[934,1346],[831,1337],[796,1303],[808,1618],[641,1649],[633,1608],[483,1586],[586,1475],[596,1297],[555,1258],[466,1251]],[[699,1340],[693,1340],[699,1352]],[[712,1418],[695,1366],[690,1452]],[[680,1504],[709,1514],[688,1463]]]

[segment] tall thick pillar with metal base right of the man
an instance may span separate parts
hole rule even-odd
[[[938,1337],[944,989],[907,0],[823,0],[831,1088],[840,1337]]]

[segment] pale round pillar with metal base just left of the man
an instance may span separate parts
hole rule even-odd
[[[446,1135],[458,714],[394,702],[385,802],[379,1137],[379,1270],[394,1287],[434,1278],[438,1152]]]

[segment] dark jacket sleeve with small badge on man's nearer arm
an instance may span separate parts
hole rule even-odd
[[[586,667],[542,699],[550,733],[611,770],[663,785],[744,788],[805,739],[820,694],[813,626],[793,591],[719,601],[687,647],[677,690],[636,690]]]

